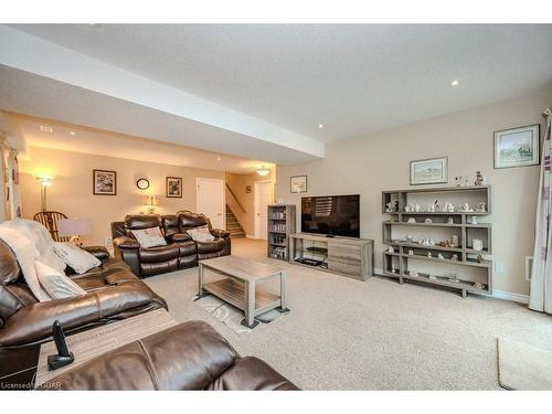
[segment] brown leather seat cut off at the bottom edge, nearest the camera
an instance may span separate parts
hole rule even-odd
[[[266,362],[240,358],[211,326],[189,321],[66,371],[43,390],[298,390]]]

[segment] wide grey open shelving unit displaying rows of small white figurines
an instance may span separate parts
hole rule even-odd
[[[492,294],[489,185],[383,191],[382,212],[385,276]]]

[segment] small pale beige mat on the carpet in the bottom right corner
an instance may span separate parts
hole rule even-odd
[[[508,390],[552,390],[552,344],[548,350],[499,338],[499,382]]]

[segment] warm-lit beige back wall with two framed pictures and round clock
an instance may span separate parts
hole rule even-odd
[[[92,170],[117,171],[117,195],[93,195]],[[32,219],[40,211],[38,173],[54,176],[47,193],[47,209],[61,211],[71,217],[87,217],[93,222],[93,233],[83,237],[86,244],[105,243],[110,237],[110,223],[120,221],[126,214],[145,211],[142,204],[148,194],[157,195],[160,214],[178,210],[195,211],[195,179],[224,180],[224,172],[193,168],[141,162],[120,158],[103,157],[32,147],[30,158],[20,161],[23,216]],[[166,177],[182,177],[183,197],[164,197]],[[141,191],[136,180],[147,178],[150,188]]]

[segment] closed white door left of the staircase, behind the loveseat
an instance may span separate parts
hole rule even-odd
[[[211,178],[198,178],[195,211],[211,220],[213,229],[225,229],[224,182]]]

